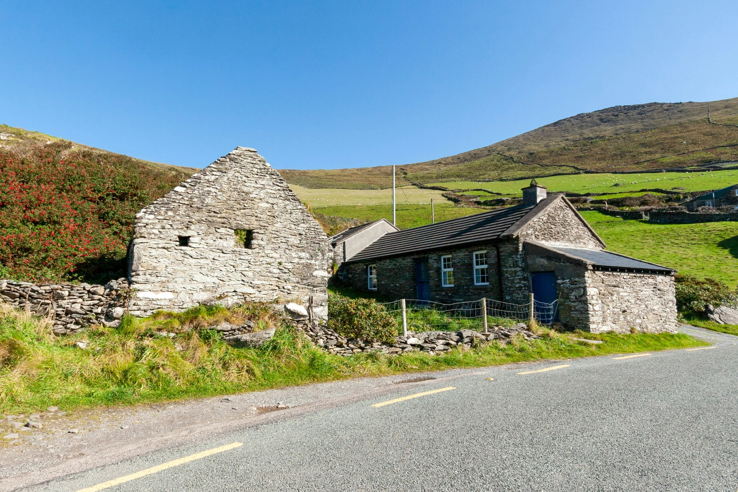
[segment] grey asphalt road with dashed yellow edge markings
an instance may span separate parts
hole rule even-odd
[[[738,341],[493,368],[55,479],[79,491],[736,491]],[[556,370],[519,374],[569,364]],[[493,378],[490,381],[488,378]],[[434,389],[455,387],[384,406]]]

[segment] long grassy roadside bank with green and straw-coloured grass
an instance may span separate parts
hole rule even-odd
[[[100,405],[224,395],[356,376],[483,367],[517,361],[599,356],[702,345],[683,334],[573,336],[541,330],[542,339],[492,342],[443,356],[412,353],[331,356],[292,328],[280,326],[260,349],[233,348],[215,330],[219,320],[252,319],[259,328],[278,321],[263,307],[227,311],[196,308],[151,319],[126,319],[120,328],[53,336],[50,326],[0,307],[0,413],[29,413],[55,405],[66,411]],[[157,333],[158,332],[158,333]],[[75,342],[87,342],[86,348]]]

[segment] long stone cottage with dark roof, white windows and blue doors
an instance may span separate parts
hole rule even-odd
[[[676,272],[604,248],[564,195],[534,180],[520,205],[382,235],[339,278],[390,299],[524,305],[533,293],[570,328],[675,331]]]

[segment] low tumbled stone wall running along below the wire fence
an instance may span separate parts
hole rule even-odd
[[[429,355],[438,355],[451,350],[453,347],[477,347],[492,340],[506,341],[518,334],[526,340],[538,339],[539,336],[528,331],[525,323],[518,323],[512,327],[493,326],[489,333],[479,333],[474,330],[458,331],[426,331],[415,333],[408,331],[407,336],[398,336],[393,344],[370,342],[368,340],[347,339],[324,324],[310,323],[307,320],[296,320],[297,328],[302,330],[311,341],[323,347],[328,353],[339,356],[351,356],[354,353],[382,352],[399,354],[403,352],[425,352]]]

